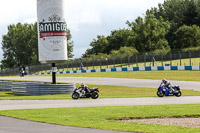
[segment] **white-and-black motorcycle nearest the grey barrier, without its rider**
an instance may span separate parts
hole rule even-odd
[[[97,87],[93,89],[89,89],[89,92],[83,93],[81,89],[74,89],[74,92],[72,93],[72,98],[73,99],[78,99],[78,98],[92,98],[92,99],[97,99],[99,97],[99,89]]]

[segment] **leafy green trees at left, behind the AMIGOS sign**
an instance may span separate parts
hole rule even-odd
[[[68,57],[73,57],[73,41],[70,30],[67,29]],[[37,65],[38,61],[38,31],[37,23],[11,24],[8,33],[2,37],[3,60],[1,69],[25,65]]]

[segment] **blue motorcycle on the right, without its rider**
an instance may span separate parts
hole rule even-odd
[[[181,91],[180,91],[180,87],[178,85],[173,86],[173,89],[170,90],[167,87],[164,86],[159,86],[158,87],[158,91],[157,91],[157,96],[158,97],[163,97],[163,96],[177,96],[180,97],[181,96]]]

